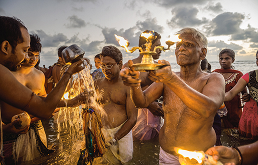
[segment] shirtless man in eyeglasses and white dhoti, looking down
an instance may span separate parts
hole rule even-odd
[[[99,102],[106,112],[101,119],[104,127],[107,127],[103,133],[109,148],[101,158],[95,158],[94,161],[103,164],[125,163],[133,154],[131,129],[136,123],[137,108],[131,100],[130,87],[123,84],[119,75],[122,68],[121,51],[111,45],[104,46],[100,61],[105,77],[95,81],[95,88],[97,92],[103,93]]]

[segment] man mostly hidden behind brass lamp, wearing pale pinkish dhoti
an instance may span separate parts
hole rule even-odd
[[[148,32],[150,30],[145,30]],[[152,31],[152,30],[151,30]],[[152,40],[152,45],[150,51],[153,51],[155,46],[160,45],[160,34],[154,31],[155,39]],[[146,38],[139,36],[138,45],[145,50]],[[156,49],[156,54],[152,55],[153,59],[158,59],[160,56],[161,50]],[[140,63],[143,54],[139,54],[138,57],[132,59],[133,63]],[[157,63],[156,61],[154,61]],[[122,68],[129,67],[128,62],[124,63]],[[139,78],[141,79],[140,86],[142,90],[146,89],[153,81],[148,78],[148,72],[140,72]],[[147,108],[138,109],[138,117],[135,126],[132,128],[132,135],[139,140],[148,140],[158,136],[158,132],[164,123],[162,103],[153,101]]]

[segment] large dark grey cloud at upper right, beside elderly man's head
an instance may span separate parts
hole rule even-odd
[[[205,27],[212,35],[230,35],[241,31],[239,28],[244,15],[238,12],[223,12],[213,18]]]

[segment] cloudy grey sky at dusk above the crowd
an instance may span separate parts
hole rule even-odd
[[[77,44],[94,65],[104,45],[115,45],[123,62],[127,53],[114,34],[137,46],[145,29],[161,34],[165,45],[170,33],[194,27],[208,38],[207,59],[218,60],[223,48],[235,51],[236,60],[255,60],[258,49],[258,0],[0,0],[0,15],[21,19],[29,33],[41,38],[40,66],[57,61],[57,48]],[[174,47],[160,59],[175,62]]]

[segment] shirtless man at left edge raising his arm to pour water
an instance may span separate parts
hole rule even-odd
[[[10,72],[10,70],[17,70],[20,62],[24,58],[28,58],[27,50],[30,47],[30,37],[26,27],[19,19],[7,16],[0,16],[0,24],[0,101],[27,111],[39,118],[47,119],[60,102],[71,74],[83,68],[80,65],[82,61],[79,60],[71,64],[66,74],[62,76],[59,83],[47,97],[37,96],[29,88],[22,85]],[[17,122],[18,119],[6,125],[2,123],[0,128],[4,133],[26,133],[28,125],[23,129],[16,129],[14,124]],[[2,150],[2,133],[0,134],[0,141]]]

